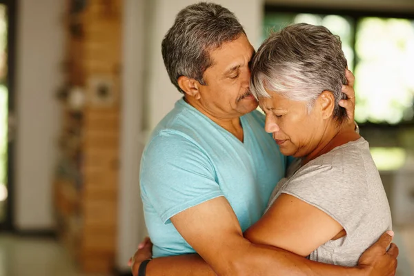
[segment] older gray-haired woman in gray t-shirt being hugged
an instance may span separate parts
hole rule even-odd
[[[339,37],[295,24],[262,44],[253,61],[253,95],[267,132],[297,157],[268,210],[245,236],[317,262],[355,266],[391,213],[368,142],[344,126],[338,105],[346,59]]]

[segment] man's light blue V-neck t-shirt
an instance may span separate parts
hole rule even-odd
[[[244,142],[181,99],[152,132],[140,184],[154,257],[195,253],[170,217],[215,197],[226,197],[243,231],[262,217],[287,159],[264,131],[262,113],[241,123]]]

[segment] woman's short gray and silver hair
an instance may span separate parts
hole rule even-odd
[[[311,110],[324,91],[333,92],[333,117],[342,123],[346,110],[346,58],[341,40],[324,26],[298,23],[270,34],[253,59],[250,89],[259,97],[270,97],[265,88],[293,101],[305,101]]]

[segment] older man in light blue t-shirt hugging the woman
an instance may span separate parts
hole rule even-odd
[[[243,237],[263,215],[289,159],[255,110],[249,90],[254,49],[232,12],[214,3],[184,8],[162,42],[162,55],[184,97],[155,128],[142,156],[141,197],[155,259],[142,262],[147,243],[133,258],[134,275],[395,272],[397,248],[386,251],[388,234],[353,268],[311,262]],[[353,77],[348,82],[343,91],[352,99],[342,106],[353,117]]]

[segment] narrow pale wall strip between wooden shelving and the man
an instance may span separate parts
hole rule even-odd
[[[145,0],[124,0],[124,46],[122,76],[122,121],[119,169],[118,255],[119,269],[128,270],[126,262],[146,235],[139,195],[142,92],[144,88],[144,14]]]

